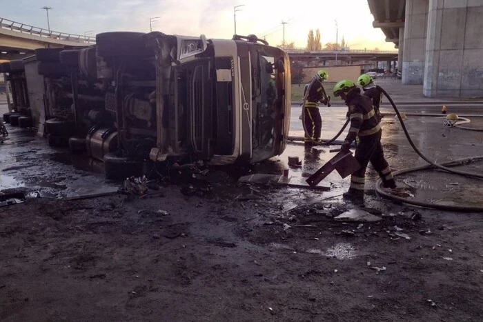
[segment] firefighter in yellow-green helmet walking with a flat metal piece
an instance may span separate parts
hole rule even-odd
[[[347,117],[351,120],[351,128],[342,144],[342,150],[348,151],[351,143],[357,137],[359,138],[355,159],[361,168],[352,174],[351,188],[344,193],[345,198],[357,201],[364,199],[364,183],[369,161],[381,177],[384,188],[396,187],[393,174],[382,151],[380,120],[375,115],[371,99],[360,92],[361,90],[348,79],[339,81],[334,87],[334,95],[340,96],[346,102]]]

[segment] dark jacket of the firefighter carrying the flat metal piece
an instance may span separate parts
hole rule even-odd
[[[344,140],[347,143],[353,142],[356,137],[366,137],[381,130],[371,99],[360,92],[359,88],[355,88],[347,95],[347,117],[351,120],[351,128]]]

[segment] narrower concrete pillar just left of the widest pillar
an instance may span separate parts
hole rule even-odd
[[[402,60],[402,83],[404,85],[423,83],[429,1],[406,0]]]

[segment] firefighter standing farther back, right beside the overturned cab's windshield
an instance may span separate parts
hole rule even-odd
[[[305,109],[305,142],[320,141],[320,133],[322,131],[322,117],[319,112],[319,102],[328,104],[330,97],[327,96],[322,82],[328,78],[325,70],[319,70],[315,73],[311,83],[306,89],[306,99],[304,100]]]

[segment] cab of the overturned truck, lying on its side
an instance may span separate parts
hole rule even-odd
[[[188,152],[213,164],[246,164],[282,154],[290,120],[286,52],[253,35],[152,32],[145,39],[156,51],[162,93],[153,161]]]

